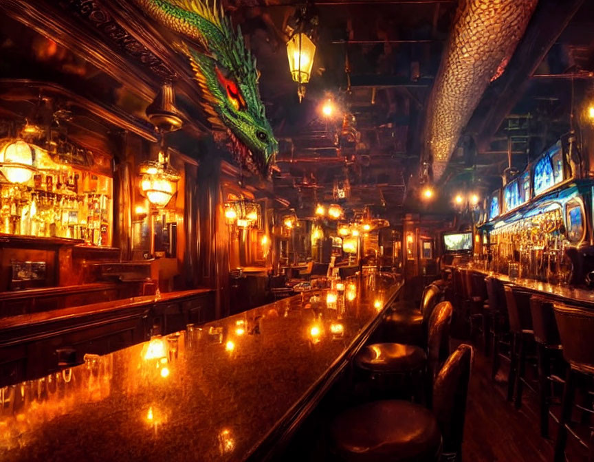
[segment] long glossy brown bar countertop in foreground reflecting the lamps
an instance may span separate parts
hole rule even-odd
[[[379,278],[378,278],[379,279]],[[377,281],[379,282],[379,281]],[[0,388],[0,460],[267,460],[401,283],[316,291]]]

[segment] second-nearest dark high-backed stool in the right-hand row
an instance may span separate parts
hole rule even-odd
[[[553,362],[562,362],[561,339],[553,312],[553,303],[543,297],[536,295],[530,298],[530,312],[532,314],[532,325],[534,329],[534,340],[536,340],[536,353],[538,359],[538,401],[540,408],[540,434],[544,438],[549,437],[549,414],[553,419],[555,416],[549,411],[552,404],[553,384],[564,384],[558,375],[551,373]]]

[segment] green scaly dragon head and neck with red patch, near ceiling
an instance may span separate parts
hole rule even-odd
[[[234,32],[216,0],[212,6],[202,0],[135,1],[159,23],[197,42],[199,47],[182,43],[180,48],[192,65],[212,128],[228,134],[238,162],[269,176],[278,142],[260,98],[256,59],[241,30]]]

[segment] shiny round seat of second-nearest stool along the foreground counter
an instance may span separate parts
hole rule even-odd
[[[425,367],[427,353],[414,345],[375,343],[363,347],[355,357],[355,364],[372,373],[407,373]]]

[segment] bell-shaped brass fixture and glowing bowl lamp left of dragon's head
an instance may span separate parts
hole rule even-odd
[[[155,126],[161,135],[161,149],[157,160],[146,160],[139,165],[140,188],[146,199],[157,206],[164,208],[171,197],[177,192],[179,172],[169,165],[169,153],[165,146],[165,133],[181,129],[184,121],[179,111],[175,108],[175,94],[170,82],[164,83],[155,97],[146,108],[148,120]]]

